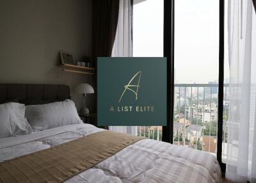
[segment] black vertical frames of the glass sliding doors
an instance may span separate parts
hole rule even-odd
[[[218,76],[218,134],[217,159],[221,171],[225,175],[226,164],[222,162],[222,134],[223,134],[223,85],[224,85],[224,31],[225,31],[225,1],[219,0],[219,76]],[[174,106],[174,16],[175,0],[164,0],[164,52],[167,60],[167,122],[163,126],[162,141],[173,143],[173,106]],[[220,139],[220,140],[219,140]]]

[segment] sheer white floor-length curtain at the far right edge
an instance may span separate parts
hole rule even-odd
[[[230,102],[226,177],[256,182],[256,16],[252,0],[228,0]]]

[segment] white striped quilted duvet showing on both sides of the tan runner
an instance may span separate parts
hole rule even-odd
[[[0,162],[99,131],[77,124],[0,139]],[[67,182],[221,182],[221,171],[212,154],[143,139]]]

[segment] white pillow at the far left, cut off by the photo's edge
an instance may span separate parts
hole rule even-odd
[[[26,107],[24,104],[9,102],[5,104],[1,104],[0,106],[1,106],[1,121],[3,118],[6,119],[6,116],[8,117],[8,123],[11,129],[11,134],[8,133],[9,134],[8,136],[27,134],[31,132],[31,127],[27,119],[25,118]],[[3,123],[4,123],[4,120],[3,120]],[[1,127],[2,125],[3,124],[1,122]],[[1,131],[4,131],[4,130],[1,130]]]

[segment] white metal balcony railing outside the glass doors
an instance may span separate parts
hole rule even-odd
[[[173,144],[216,154],[218,84],[175,84],[174,86]],[[228,84],[224,84],[223,89],[223,152],[226,152]],[[161,140],[162,127],[138,127],[138,136]]]

